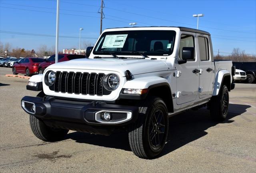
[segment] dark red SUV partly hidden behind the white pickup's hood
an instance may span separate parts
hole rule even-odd
[[[74,60],[78,58],[86,58],[84,55],[76,55],[76,54],[58,54],[58,62]],[[45,62],[42,62],[38,67],[38,73],[43,74],[44,70],[55,63],[55,54],[46,59]]]

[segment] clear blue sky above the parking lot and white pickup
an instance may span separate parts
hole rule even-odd
[[[95,43],[100,35],[100,0],[60,0],[59,50]],[[38,50],[55,45],[56,0],[0,0],[0,42]],[[104,0],[102,29],[136,26],[184,26],[210,32],[214,54],[233,48],[256,54],[256,0]],[[81,46],[82,47],[82,46]]]

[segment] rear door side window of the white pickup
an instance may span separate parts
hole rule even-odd
[[[209,60],[209,43],[205,37],[198,37],[199,56],[201,61]]]

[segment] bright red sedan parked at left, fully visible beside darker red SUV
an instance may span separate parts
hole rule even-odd
[[[23,58],[13,65],[12,73],[26,74],[26,76],[38,74],[38,66],[41,62],[44,62],[43,58]]]

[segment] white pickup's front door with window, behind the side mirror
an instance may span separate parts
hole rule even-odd
[[[184,64],[177,64],[177,72],[181,73],[177,77],[176,103],[178,105],[194,101],[198,95],[199,73],[197,71],[199,70],[199,62],[196,56],[195,34],[181,35],[178,54],[179,60],[183,60],[182,48],[184,47],[193,47],[195,54],[194,60],[188,60]]]

